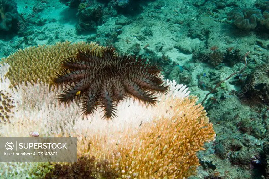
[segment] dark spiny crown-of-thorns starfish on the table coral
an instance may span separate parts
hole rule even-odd
[[[155,92],[166,93],[160,69],[146,59],[116,54],[106,47],[101,51],[79,50],[62,66],[64,70],[53,79],[56,85],[66,85],[59,102],[70,104],[82,99],[83,114],[93,114],[98,106],[104,108],[104,118],[116,116],[116,106],[125,97],[134,97],[154,105]],[[73,83],[73,84],[72,84]]]

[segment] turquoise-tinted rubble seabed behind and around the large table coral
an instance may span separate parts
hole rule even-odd
[[[268,0],[0,0],[3,61],[33,46],[96,42],[146,58],[199,97],[216,139],[197,153],[191,179],[269,178],[268,38]]]

